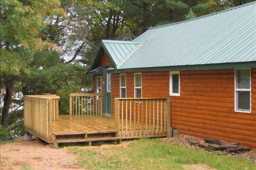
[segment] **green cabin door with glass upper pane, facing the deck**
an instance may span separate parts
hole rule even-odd
[[[104,71],[104,111],[111,114],[111,74]]]

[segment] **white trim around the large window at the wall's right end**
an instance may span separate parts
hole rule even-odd
[[[250,71],[250,88],[248,89],[240,89],[236,88],[236,70],[241,70],[241,69],[249,69]],[[237,68],[235,69],[235,112],[241,112],[241,113],[251,113],[252,110],[252,92],[251,92],[251,69],[250,68]],[[241,111],[236,109],[237,101],[236,101],[236,91],[250,91],[250,111]]]

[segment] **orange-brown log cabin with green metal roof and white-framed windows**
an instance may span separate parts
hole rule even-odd
[[[87,75],[104,114],[157,130],[168,119],[180,134],[256,149],[256,2],[152,27],[132,41],[101,40]]]

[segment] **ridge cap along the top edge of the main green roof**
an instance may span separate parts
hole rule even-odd
[[[229,9],[226,9],[226,10],[223,10],[223,11],[218,11],[218,12],[215,12],[215,13],[212,13],[212,14],[207,14],[207,15],[203,15],[203,16],[200,16],[200,17],[192,18],[192,19],[189,19],[189,20],[184,20],[184,21],[180,21],[180,22],[176,22],[176,23],[169,23],[169,24],[165,24],[165,25],[162,25],[162,26],[150,27],[150,28],[148,28],[148,30],[157,29],[157,28],[163,28],[163,27],[167,27],[167,26],[172,26],[172,25],[180,24],[180,23],[186,23],[186,22],[189,22],[189,21],[192,21],[192,20],[199,20],[199,19],[202,19],[202,18],[205,18],[205,17],[209,17],[209,16],[212,16],[212,15],[221,14],[223,12],[231,11],[231,10],[234,10],[236,8],[241,8],[241,7],[244,7],[244,6],[249,6],[249,5],[252,5],[254,3],[256,3],[256,1],[253,1],[251,3],[246,3],[246,4],[243,4],[241,6],[235,6],[233,8],[229,8]]]

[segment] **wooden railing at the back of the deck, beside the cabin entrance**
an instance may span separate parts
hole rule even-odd
[[[71,93],[70,115],[102,114],[102,99],[101,93]]]

